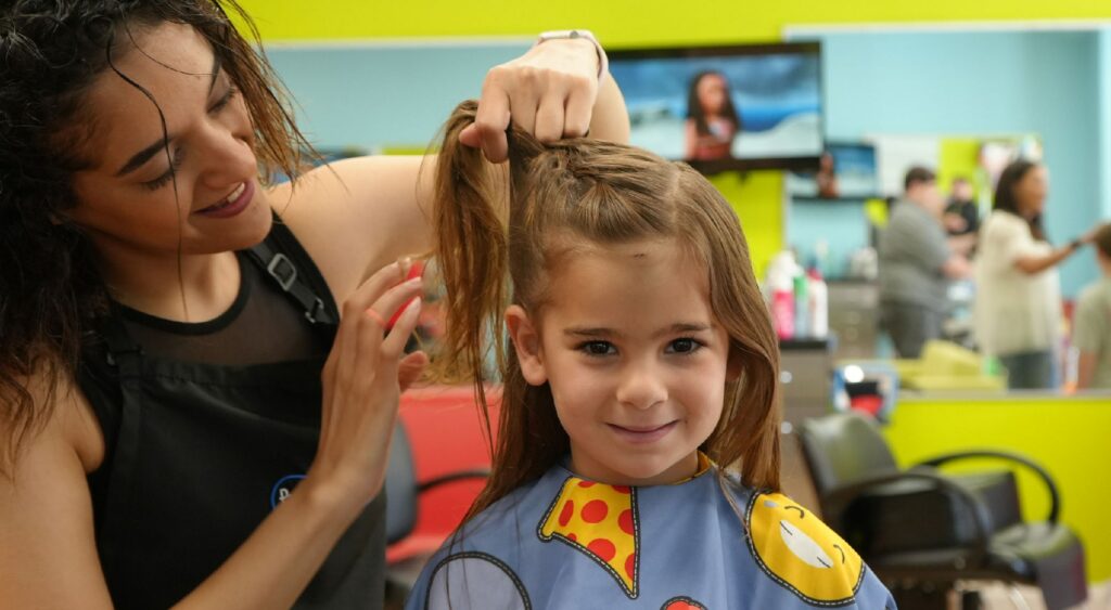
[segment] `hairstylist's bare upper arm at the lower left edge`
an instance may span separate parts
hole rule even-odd
[[[0,476],[0,608],[111,608],[86,479],[103,460],[100,427],[73,384],[51,393],[43,375],[28,389],[53,410]]]

